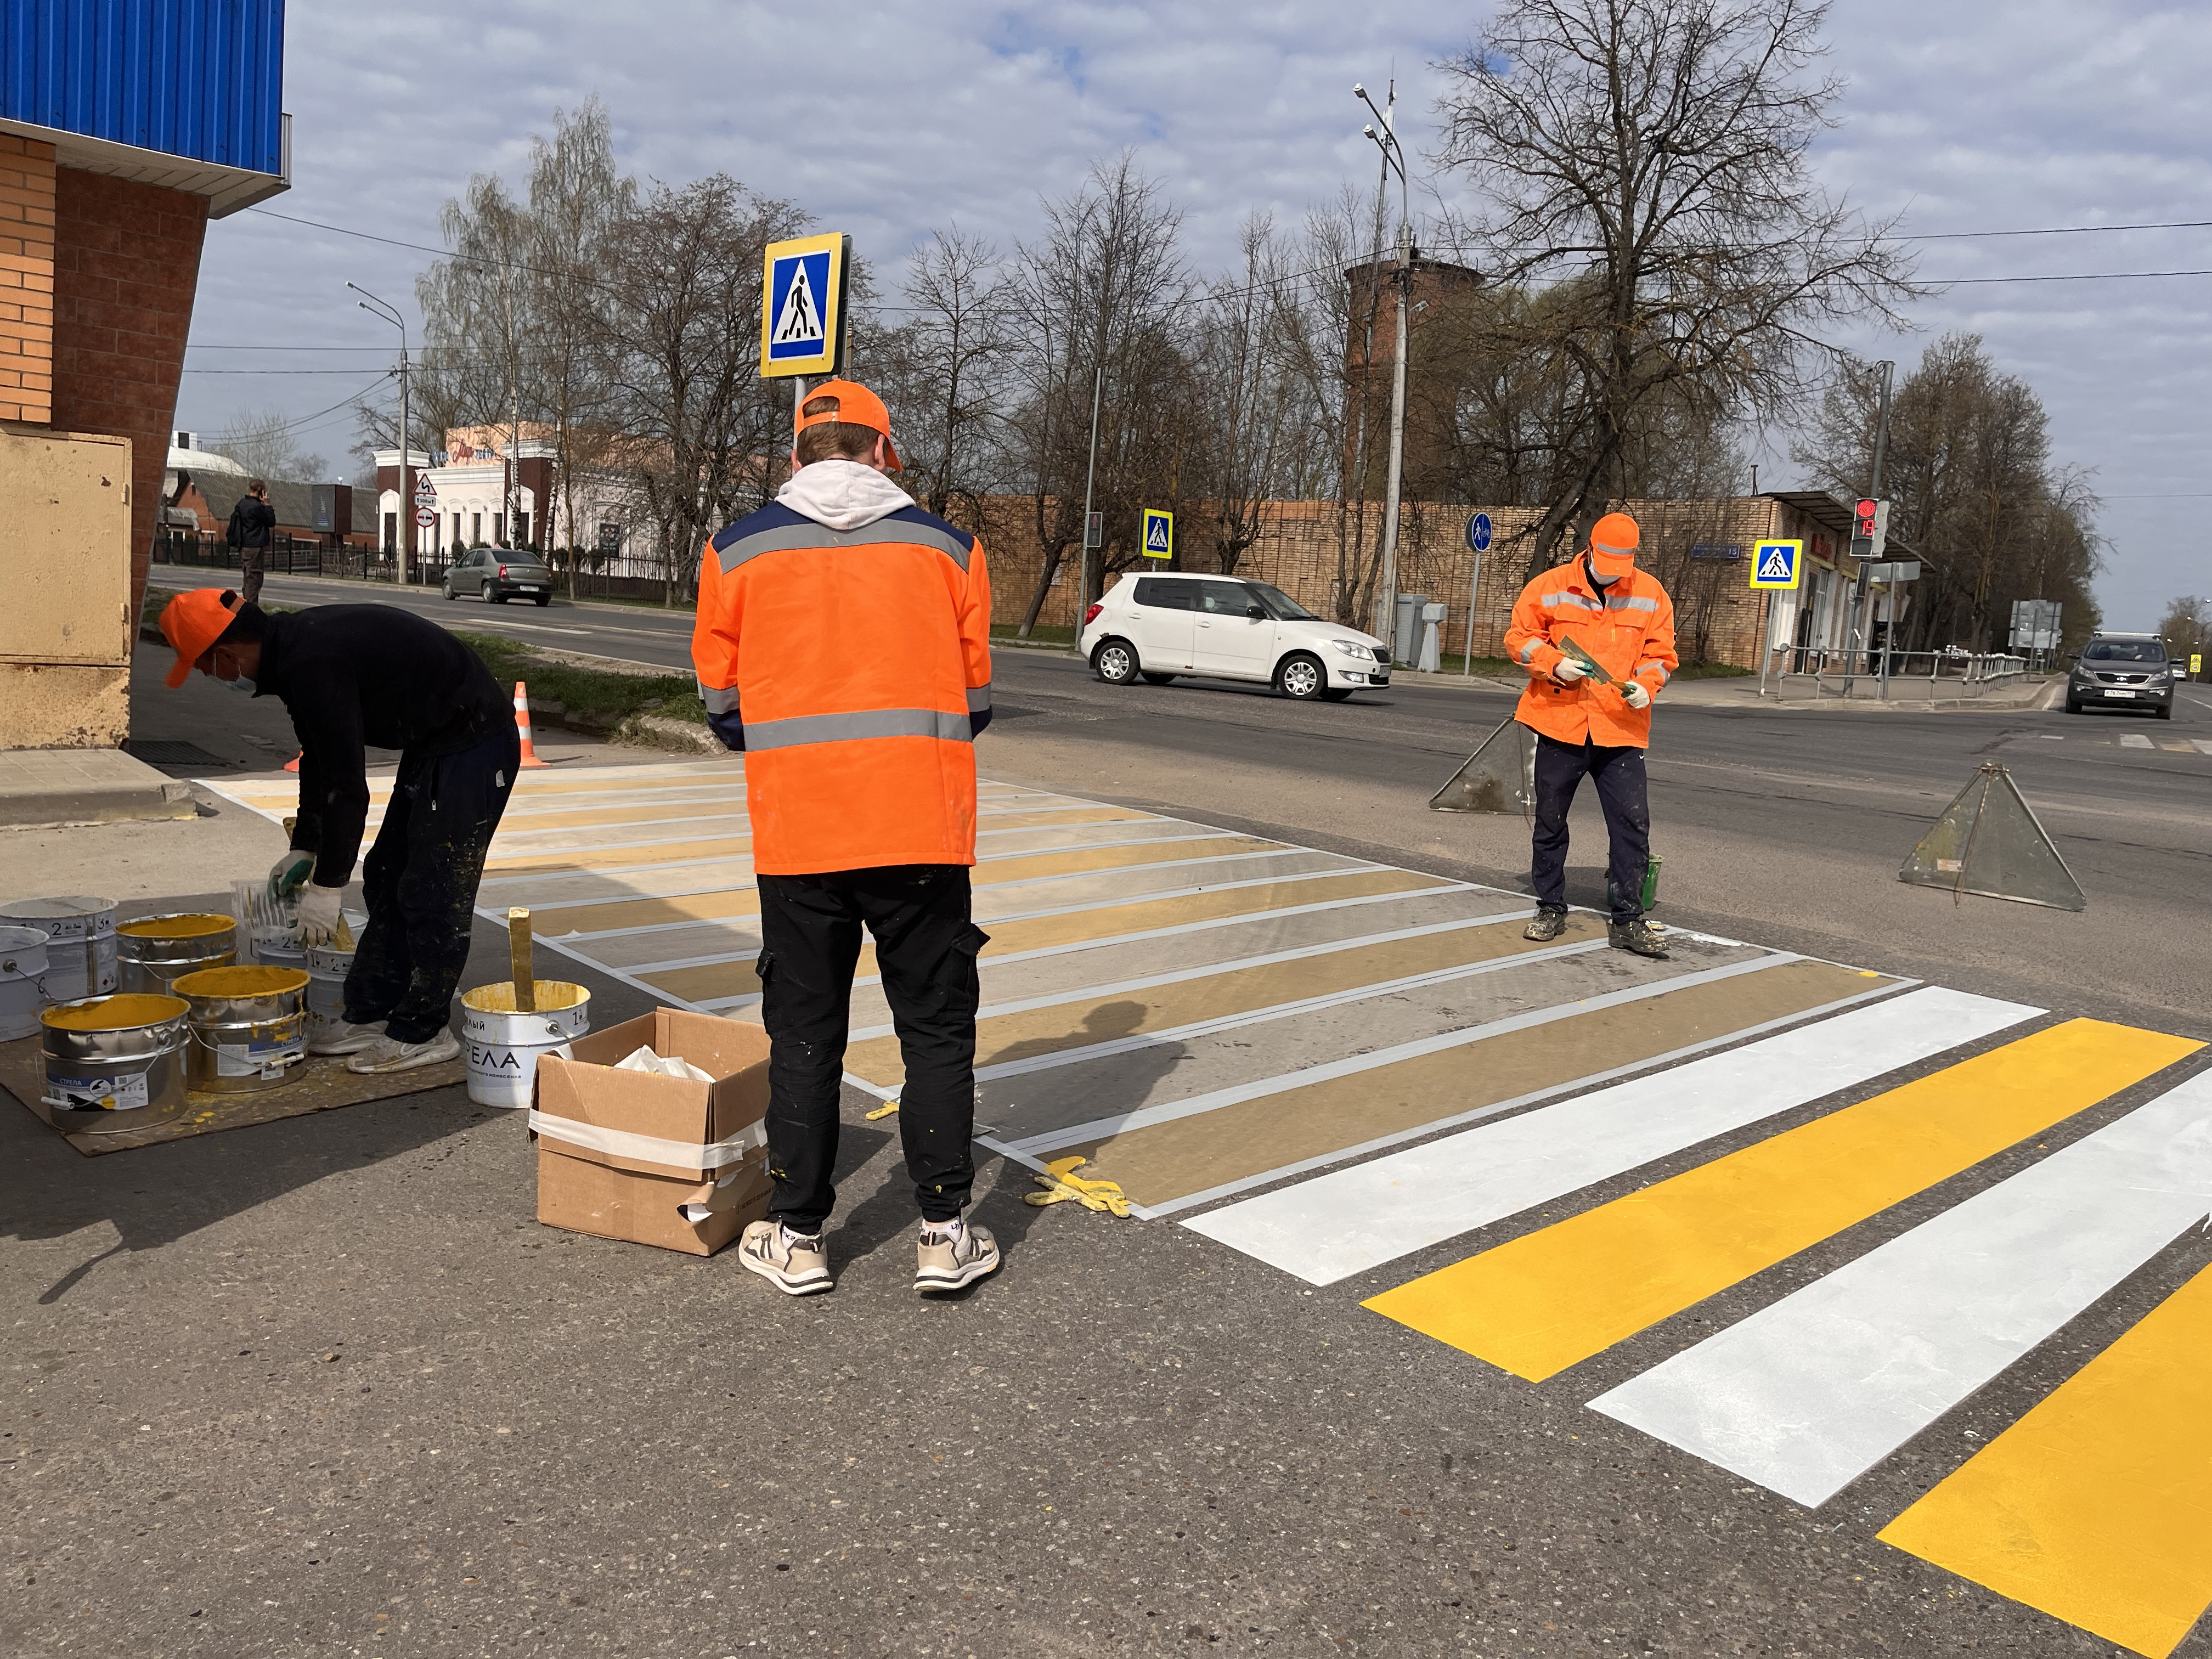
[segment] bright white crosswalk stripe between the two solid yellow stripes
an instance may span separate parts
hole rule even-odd
[[[2212,1073],[1593,1400],[1820,1506],[2212,1206]]]

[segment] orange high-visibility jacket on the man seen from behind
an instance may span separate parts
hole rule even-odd
[[[982,542],[920,507],[832,531],[772,502],[699,560],[699,697],[745,750],[752,867],[975,863]]]

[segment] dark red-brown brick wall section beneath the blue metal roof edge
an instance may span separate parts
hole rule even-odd
[[[131,440],[131,595],[161,504],[184,336],[208,204],[155,184],[55,168],[53,411],[62,431]]]

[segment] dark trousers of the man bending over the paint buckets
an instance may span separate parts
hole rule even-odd
[[[392,805],[361,860],[369,925],[345,975],[345,1018],[425,1042],[453,1018],[476,885],[515,787],[522,739],[495,726],[458,754],[400,754]]]

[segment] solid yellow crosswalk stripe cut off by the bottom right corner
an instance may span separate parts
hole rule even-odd
[[[2212,1604],[2212,1267],[1882,1528],[2166,1659]]]

